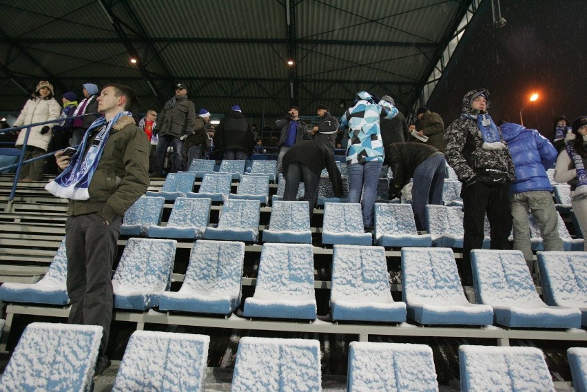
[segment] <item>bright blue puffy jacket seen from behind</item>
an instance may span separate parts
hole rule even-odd
[[[537,130],[528,130],[523,125],[504,123],[500,128],[515,167],[516,180],[510,185],[510,193],[552,192],[546,169],[557,158],[555,147]]]

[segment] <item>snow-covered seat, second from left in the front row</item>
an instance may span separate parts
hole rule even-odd
[[[134,331],[112,391],[204,391],[209,344],[205,335]]]

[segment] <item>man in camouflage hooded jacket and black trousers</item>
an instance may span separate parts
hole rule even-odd
[[[500,128],[487,113],[488,90],[466,93],[462,114],[446,128],[446,161],[463,183],[464,211],[462,279],[471,283],[471,249],[480,249],[484,239],[485,214],[491,226],[491,249],[509,249],[512,229],[509,184],[515,180],[514,166]]]

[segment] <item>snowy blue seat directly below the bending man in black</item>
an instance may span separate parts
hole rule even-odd
[[[269,227],[263,230],[265,243],[311,244],[307,201],[275,201],[271,206]]]

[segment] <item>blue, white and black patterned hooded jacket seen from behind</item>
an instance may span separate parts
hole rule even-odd
[[[382,101],[378,105],[368,92],[358,92],[355,105],[340,120],[342,130],[348,130],[347,164],[383,161],[380,120],[395,114],[398,110],[391,103]]]

